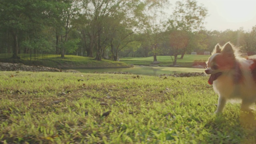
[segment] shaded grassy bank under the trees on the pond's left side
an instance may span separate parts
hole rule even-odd
[[[42,55],[33,56],[30,61],[29,54],[22,54],[19,62],[26,65],[42,65],[55,68],[64,67],[126,67],[129,66],[124,62],[115,62],[112,60],[97,61],[94,58],[65,55],[65,58],[60,58],[60,55],[45,55],[42,59]],[[4,54],[0,54],[0,58],[6,57]],[[8,60],[8,59],[5,59]],[[3,60],[2,60],[3,61]]]

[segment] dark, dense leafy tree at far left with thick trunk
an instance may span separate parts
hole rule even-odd
[[[58,4],[55,1],[49,0],[2,0],[0,2],[0,26],[12,36],[12,58],[19,58],[18,52],[21,45],[31,50],[31,48],[38,48],[40,42],[42,45],[47,43],[46,40],[42,40],[44,36],[41,32],[52,25],[56,5]]]

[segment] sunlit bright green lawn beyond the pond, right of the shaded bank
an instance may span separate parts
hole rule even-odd
[[[178,56],[177,64],[182,67],[191,67],[195,60],[207,61],[209,55],[185,55],[183,59],[180,59]],[[154,58],[122,58],[121,62],[125,62],[127,64],[136,64],[136,65],[150,65],[152,64]],[[160,62],[160,66],[170,66],[172,65],[172,58],[170,56],[157,56],[157,60]]]

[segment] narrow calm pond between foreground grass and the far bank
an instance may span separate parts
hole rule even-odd
[[[130,72],[138,75],[158,76],[160,74],[175,74],[182,72],[204,72],[202,68],[178,68],[160,66],[134,66],[134,68],[103,68],[103,69],[74,69],[82,73],[94,72]]]

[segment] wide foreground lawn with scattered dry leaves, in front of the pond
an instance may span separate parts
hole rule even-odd
[[[255,143],[238,104],[213,114],[208,77],[134,76],[0,72],[0,142]]]

